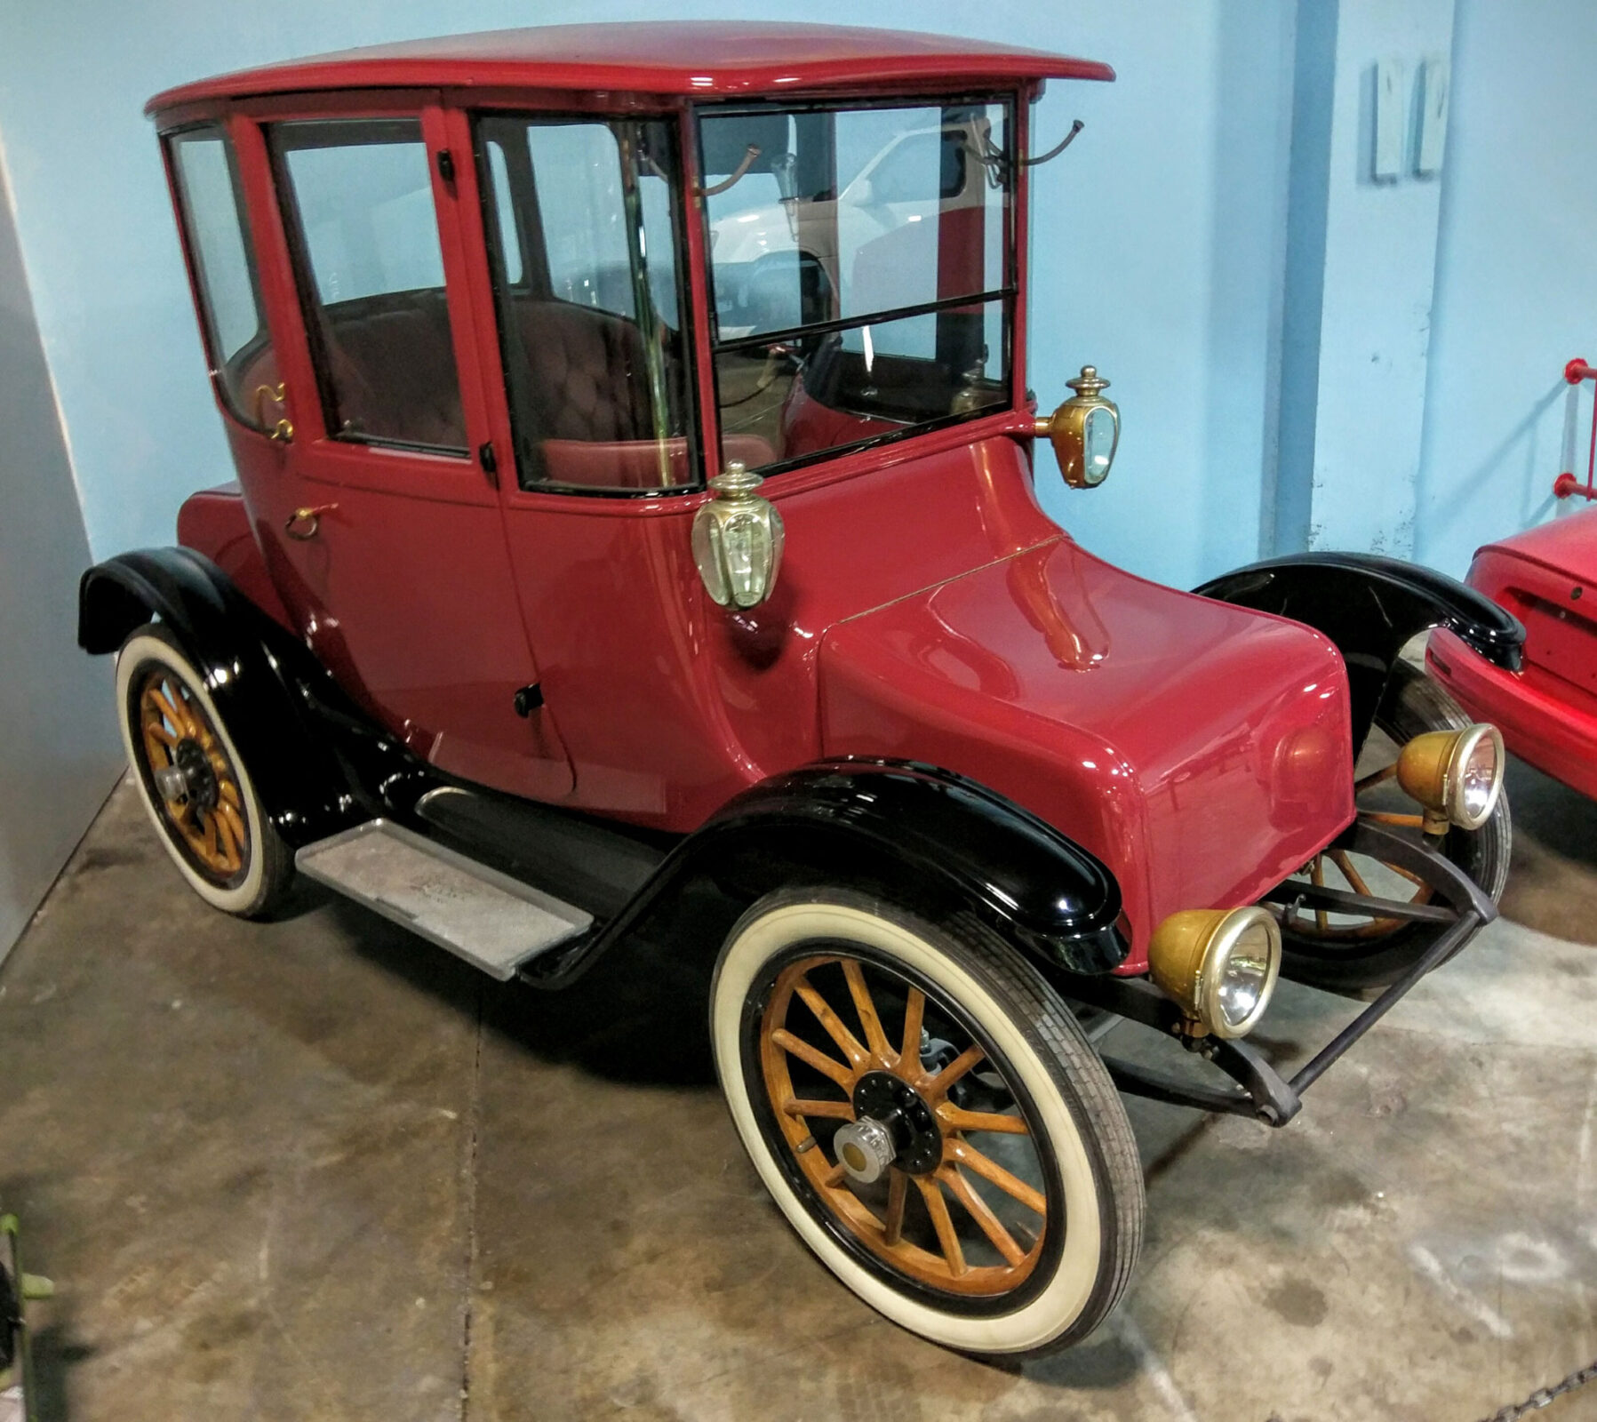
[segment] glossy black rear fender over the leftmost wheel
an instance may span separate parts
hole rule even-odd
[[[398,746],[385,746],[310,650],[209,558],[190,548],[149,548],[83,574],[78,645],[85,652],[115,652],[152,618],[204,676],[256,792],[289,845],[380,813],[361,812],[361,788],[378,773],[374,757],[393,757]],[[363,762],[358,773],[351,756]]]

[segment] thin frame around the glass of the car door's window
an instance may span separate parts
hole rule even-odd
[[[307,353],[310,355],[311,380],[316,388],[316,404],[321,414],[323,436],[334,443],[335,446],[343,446],[348,449],[390,449],[402,454],[423,454],[434,459],[454,460],[460,465],[471,465],[474,462],[474,454],[471,447],[471,412],[468,404],[466,380],[468,372],[462,369],[460,356],[455,348],[455,302],[457,297],[450,291],[449,281],[449,257],[446,252],[446,233],[444,233],[444,214],[439,211],[438,198],[433,185],[433,166],[434,152],[433,144],[428,139],[426,120],[422,109],[399,112],[339,112],[327,110],[324,113],[284,113],[284,115],[265,115],[256,120],[260,128],[260,141],[265,147],[267,165],[271,179],[271,190],[276,197],[278,219],[283,227],[283,240],[287,246],[289,268],[294,280],[294,300],[300,313],[300,328],[305,336]],[[450,342],[450,363],[455,367],[455,387],[460,398],[460,427],[466,436],[465,444],[426,444],[418,439],[394,439],[391,436],[382,435],[347,435],[337,419],[337,403],[332,388],[332,363],[327,358],[327,347],[323,339],[321,318],[318,316],[316,307],[321,305],[321,297],[316,284],[316,270],[310,260],[310,248],[307,244],[305,219],[299,206],[299,193],[294,189],[294,179],[289,174],[287,155],[284,149],[278,144],[278,133],[284,128],[294,128],[297,125],[308,126],[355,126],[355,125],[396,125],[396,123],[414,123],[417,129],[417,142],[423,152],[423,171],[426,174],[426,198],[433,209],[433,228],[438,236],[439,246],[439,265],[442,270],[442,286],[438,288],[444,300],[444,316],[446,329],[449,331]],[[358,144],[347,145],[329,145],[329,147],[359,147]],[[383,296],[394,296],[396,292],[383,292]],[[355,300],[364,300],[366,297],[355,297]]]

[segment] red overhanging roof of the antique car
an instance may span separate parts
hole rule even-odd
[[[917,81],[1112,80],[1089,59],[904,30],[755,21],[567,24],[372,45],[244,69],[157,94],[182,104],[350,88],[621,89],[707,97]]]

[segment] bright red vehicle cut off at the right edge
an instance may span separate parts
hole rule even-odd
[[[1597,796],[1597,508],[1488,543],[1468,582],[1525,625],[1524,666],[1493,666],[1439,628],[1431,674],[1516,756]]]

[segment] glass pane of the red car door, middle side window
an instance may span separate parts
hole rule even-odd
[[[271,147],[329,433],[465,454],[422,125],[279,123]]]

